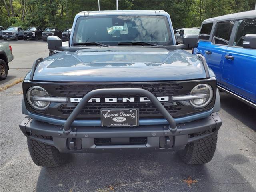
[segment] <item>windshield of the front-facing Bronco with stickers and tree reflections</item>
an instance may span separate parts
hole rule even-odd
[[[72,43],[152,42],[173,45],[166,16],[92,16],[77,20]]]

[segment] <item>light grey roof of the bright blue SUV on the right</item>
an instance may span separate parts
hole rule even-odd
[[[254,17],[256,17],[256,10],[213,17],[213,18],[204,20],[203,23],[210,22],[210,21],[238,20],[238,19],[254,18]]]

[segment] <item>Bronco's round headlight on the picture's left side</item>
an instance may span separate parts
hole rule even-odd
[[[30,106],[36,110],[45,110],[50,105],[49,101],[42,101],[40,97],[49,97],[44,88],[33,86],[28,89],[27,100]]]

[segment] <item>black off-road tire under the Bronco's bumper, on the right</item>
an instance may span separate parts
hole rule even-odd
[[[200,136],[209,134],[210,131],[194,134]],[[187,164],[204,164],[210,162],[217,145],[217,132],[200,140],[188,143],[184,150],[179,151],[180,158]]]

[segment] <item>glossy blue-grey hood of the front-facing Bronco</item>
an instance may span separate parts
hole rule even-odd
[[[137,46],[59,52],[38,64],[34,80],[64,82],[172,81],[206,78],[196,56]]]

